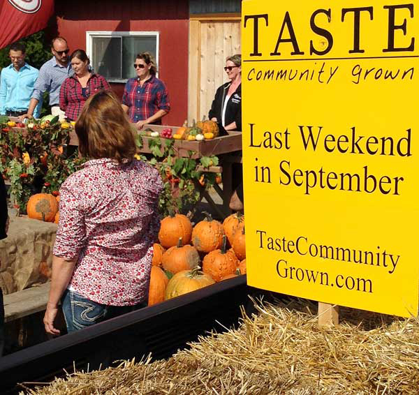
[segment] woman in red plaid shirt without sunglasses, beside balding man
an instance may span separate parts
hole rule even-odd
[[[66,112],[68,120],[75,121],[89,96],[101,89],[110,91],[110,85],[101,75],[91,73],[89,58],[83,50],[75,50],[70,59],[74,74],[61,85],[59,107]]]

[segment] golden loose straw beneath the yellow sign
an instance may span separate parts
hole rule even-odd
[[[341,308],[318,327],[316,304],[254,302],[238,329],[210,333],[166,361],[73,373],[22,394],[370,395],[419,393],[419,321]]]

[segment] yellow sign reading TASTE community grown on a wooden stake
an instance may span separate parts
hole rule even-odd
[[[248,283],[418,315],[419,3],[368,4],[242,3]]]

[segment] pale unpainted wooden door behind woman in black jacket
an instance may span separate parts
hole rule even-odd
[[[228,81],[226,57],[240,54],[240,16],[189,22],[188,121],[208,117],[216,89]]]

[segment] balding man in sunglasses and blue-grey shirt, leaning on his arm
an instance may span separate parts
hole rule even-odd
[[[59,115],[60,119],[64,119],[64,111],[59,108],[59,89],[64,80],[74,73],[68,57],[69,51],[65,38],[56,37],[52,40],[51,52],[54,57],[41,66],[28,111],[20,119],[36,117],[34,110],[41,102],[44,92],[50,94],[51,114]]]

